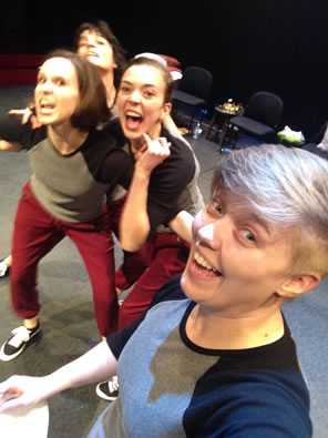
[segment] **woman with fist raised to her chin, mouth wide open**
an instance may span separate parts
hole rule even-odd
[[[192,240],[184,220],[191,220],[203,206],[197,159],[189,144],[164,124],[173,88],[166,67],[141,57],[127,64],[117,92],[116,122],[127,139],[124,150],[134,164],[120,221],[125,263],[116,272],[115,284],[119,288],[135,284],[120,307],[120,329],[143,313],[168,278],[183,272]],[[160,165],[153,171],[148,160],[156,157]],[[117,388],[114,377],[101,383],[96,394],[113,400]]]

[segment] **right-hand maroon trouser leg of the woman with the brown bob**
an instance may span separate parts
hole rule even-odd
[[[66,234],[78,246],[92,285],[94,312],[102,336],[117,330],[114,242],[106,212],[88,224],[71,224]]]

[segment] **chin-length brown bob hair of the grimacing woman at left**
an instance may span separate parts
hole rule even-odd
[[[69,60],[76,71],[80,104],[71,116],[72,125],[82,131],[90,131],[99,123],[106,122],[111,116],[111,110],[107,108],[106,90],[96,68],[76,53],[64,49],[51,51],[44,61],[51,58]]]

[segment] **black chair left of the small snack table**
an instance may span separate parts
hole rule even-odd
[[[195,119],[196,109],[205,106],[213,83],[212,73],[202,67],[191,65],[183,71],[178,88],[173,92],[173,116],[176,115],[178,104],[193,106],[188,130]],[[203,121],[203,112],[201,123]]]

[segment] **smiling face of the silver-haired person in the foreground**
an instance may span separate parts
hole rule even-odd
[[[275,306],[289,278],[291,237],[232,194],[215,193],[195,217],[185,294],[223,316],[258,315]]]

